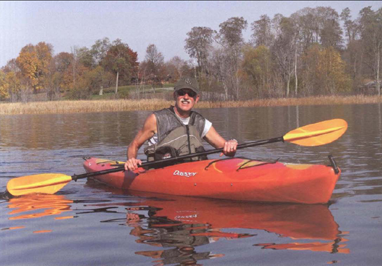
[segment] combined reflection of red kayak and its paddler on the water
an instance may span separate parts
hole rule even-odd
[[[280,244],[253,244],[263,249],[349,253],[343,244],[347,240],[342,237],[328,205],[250,203],[124,191],[95,182],[88,182],[88,185],[113,194],[133,196],[132,201],[111,204],[127,208],[126,223],[132,227],[130,234],[137,237],[137,243],[164,248],[155,251],[145,249],[136,251],[136,254],[161,259],[164,264],[185,258],[193,261],[224,256],[208,252],[199,258],[201,254],[194,248],[221,239],[250,237],[256,241],[257,231],[254,230],[282,237]],[[117,222],[120,221],[122,219]],[[270,238],[274,239],[271,235]],[[189,255],[185,255],[185,250]]]

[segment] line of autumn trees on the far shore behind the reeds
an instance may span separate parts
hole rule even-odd
[[[88,47],[54,55],[53,46],[26,45],[0,70],[0,99],[27,101],[45,92],[85,99],[102,88],[161,86],[182,75],[200,81],[209,100],[304,97],[357,93],[374,81],[381,95],[382,8],[363,8],[353,19],[345,8],[303,8],[289,17],[262,15],[248,24],[231,17],[219,29],[195,26],[184,40],[191,60],[164,61],[154,44],[145,59],[122,40],[97,40]],[[243,33],[250,27],[250,40]]]

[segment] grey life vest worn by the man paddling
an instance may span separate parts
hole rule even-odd
[[[154,111],[157,118],[158,142],[145,148],[148,161],[168,159],[180,155],[202,152],[202,132],[205,118],[196,111],[191,111],[189,125],[184,125],[177,117],[174,107]],[[191,160],[206,159],[195,157]]]

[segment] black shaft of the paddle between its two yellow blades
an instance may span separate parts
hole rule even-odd
[[[264,139],[262,141],[253,141],[253,142],[249,142],[249,143],[239,144],[237,146],[237,148],[241,149],[241,148],[255,147],[255,146],[260,146],[260,145],[264,145],[264,144],[280,142],[280,141],[284,142],[283,136],[280,136],[278,138],[273,138],[273,139]],[[189,159],[192,157],[211,155],[211,154],[218,153],[218,152],[223,152],[223,148],[214,149],[214,150],[206,150],[204,152],[196,152],[196,153],[191,153],[189,155],[181,155],[181,156],[168,158],[168,159],[161,159],[159,161],[144,162],[144,163],[142,163],[141,166],[152,166],[155,164],[177,162],[181,159]],[[81,179],[81,178],[91,178],[92,176],[95,176],[95,175],[105,175],[106,173],[116,173],[116,172],[120,172],[120,171],[125,171],[125,166],[117,166],[116,168],[113,168],[113,169],[107,169],[107,170],[97,171],[97,172],[93,172],[93,173],[83,173],[82,175],[72,175],[72,180],[77,181],[77,179]]]

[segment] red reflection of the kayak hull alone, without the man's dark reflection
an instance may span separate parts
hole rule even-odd
[[[340,235],[328,205],[248,203],[208,198],[189,198],[143,192],[142,202],[134,206],[148,206],[152,217],[166,217],[167,223],[203,224],[209,228],[248,228],[266,230],[294,239],[335,240]],[[212,233],[213,234],[213,233]]]

